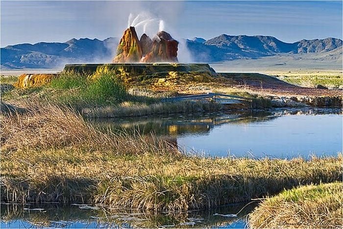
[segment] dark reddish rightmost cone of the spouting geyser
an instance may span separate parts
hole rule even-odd
[[[177,62],[177,46],[179,42],[172,36],[160,31],[153,38],[151,51],[143,58],[142,62]]]

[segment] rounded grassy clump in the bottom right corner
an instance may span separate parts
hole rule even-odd
[[[249,216],[252,228],[342,228],[342,182],[309,185],[267,199]]]

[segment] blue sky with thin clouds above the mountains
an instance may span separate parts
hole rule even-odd
[[[342,39],[342,1],[0,1],[0,46],[121,36],[146,12],[175,38],[270,35],[285,42]],[[155,29],[151,25],[151,29]],[[158,30],[158,28],[156,27]],[[139,34],[140,35],[140,34]]]

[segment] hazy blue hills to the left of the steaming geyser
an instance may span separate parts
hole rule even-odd
[[[119,40],[71,39],[65,43],[40,42],[1,48],[1,68],[61,68],[66,63],[111,62]]]

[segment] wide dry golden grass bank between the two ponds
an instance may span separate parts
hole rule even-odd
[[[66,107],[1,115],[1,201],[82,202],[153,210],[210,208],[342,178],[342,156],[185,156],[154,137],[114,135]]]

